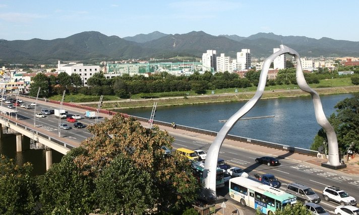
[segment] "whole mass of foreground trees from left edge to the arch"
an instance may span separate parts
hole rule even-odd
[[[200,191],[185,157],[165,156],[173,137],[116,114],[42,176],[0,163],[0,214],[181,214]],[[37,205],[41,205],[37,207]]]

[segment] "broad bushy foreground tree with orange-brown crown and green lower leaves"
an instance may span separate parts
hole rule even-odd
[[[94,136],[64,156],[60,164],[53,165],[42,179],[41,199],[51,199],[44,202],[46,212],[78,214],[100,208],[104,213],[130,209],[142,213],[154,207],[166,211],[184,208],[197,198],[199,185],[188,159],[177,154],[164,156],[161,147],[171,148],[174,141],[166,131],[157,126],[145,128],[136,119],[120,114],[88,129]],[[58,182],[50,183],[55,178]],[[133,180],[128,181],[129,186],[142,184],[138,192],[124,187],[123,182],[129,178]],[[78,191],[73,195],[75,189]],[[107,195],[123,199],[105,198]],[[123,204],[125,200],[129,202]],[[134,205],[138,208],[130,208]]]

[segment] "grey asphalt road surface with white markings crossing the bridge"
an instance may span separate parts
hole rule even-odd
[[[25,103],[30,104],[30,101],[25,101]],[[3,102],[3,106],[7,106]],[[55,104],[52,103],[41,103],[36,107],[36,112],[40,112],[41,108],[47,109],[56,109]],[[83,116],[85,110],[73,111],[67,109],[69,114],[79,114]],[[34,121],[34,109],[25,109],[18,106],[18,119],[25,120],[28,123],[33,123]],[[99,118],[98,121],[103,121],[103,117]],[[85,125],[94,124],[95,119],[80,119],[78,120]],[[62,119],[61,123],[68,123],[68,125],[72,126],[73,123],[67,122],[66,119]],[[53,132],[54,135],[58,134],[58,119],[54,117],[54,115],[46,115],[45,118],[36,118],[35,121],[36,127],[40,129],[44,129],[49,132]],[[208,151],[209,146],[211,144],[210,141],[199,139],[197,137],[191,136],[183,136],[172,134],[175,137],[175,141],[173,143],[173,151],[180,147],[185,147],[188,149],[201,149],[205,152]],[[82,140],[91,137],[92,134],[87,131],[86,128],[72,128],[69,130],[61,130],[62,138],[76,139],[76,141],[81,142]],[[354,192],[355,190],[359,190],[359,176],[356,175],[348,175],[339,171],[334,171],[326,168],[322,168],[319,166],[314,166],[308,163],[303,163],[301,161],[293,161],[287,159],[280,159],[280,166],[277,167],[268,167],[267,165],[260,165],[255,162],[255,159],[258,157],[262,157],[266,155],[264,152],[252,152],[248,150],[243,150],[242,148],[231,147],[229,145],[224,144],[221,147],[219,158],[223,158],[227,163],[231,166],[237,166],[242,168],[245,172],[249,173],[250,176],[255,173],[271,173],[274,174],[281,182],[282,186],[280,189],[285,190],[286,185],[290,182],[298,182],[311,187],[317,194],[321,197],[322,201],[319,203],[322,205],[327,211],[334,213],[335,206],[338,204],[334,202],[327,202],[322,197],[322,191],[325,186],[338,186],[343,190],[347,191],[351,196],[355,199],[359,200],[359,192]],[[218,194],[225,196],[229,199],[228,187],[221,188],[218,190]],[[244,211],[248,211],[248,213],[253,213],[254,210],[249,207],[242,207],[239,202],[233,202],[238,206],[238,208],[242,208]],[[247,214],[247,213],[246,213]]]

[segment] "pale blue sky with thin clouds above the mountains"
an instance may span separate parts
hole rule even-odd
[[[359,41],[358,8],[356,0],[1,0],[0,39],[52,40],[84,31],[121,38],[204,31]]]

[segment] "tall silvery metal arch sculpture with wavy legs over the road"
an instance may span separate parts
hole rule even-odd
[[[256,94],[250,99],[240,110],[238,110],[235,114],[233,114],[227,122],[223,125],[221,130],[218,132],[216,138],[214,139],[213,143],[211,144],[210,148],[207,152],[207,158],[204,165],[204,183],[205,188],[203,190],[203,195],[207,199],[217,198],[216,195],[216,168],[217,168],[217,159],[219,155],[220,147],[223,144],[224,138],[228,134],[228,132],[232,129],[234,124],[248,111],[250,111],[254,105],[258,102],[258,100],[262,97],[264,88],[267,81],[268,69],[271,62],[279,55],[282,54],[290,54],[294,56],[296,61],[296,81],[298,86],[305,92],[308,92],[312,96],[312,101],[314,104],[315,116],[319,125],[321,125],[326,133],[328,138],[328,147],[329,147],[329,160],[328,164],[332,166],[339,166],[339,156],[338,156],[338,141],[334,131],[334,128],[331,126],[329,121],[327,120],[322,103],[320,101],[320,97],[316,91],[311,89],[307,84],[302,70],[302,64],[299,54],[284,45],[280,45],[280,50],[270,55],[263,63],[262,72],[259,77],[259,84],[257,88]]]

